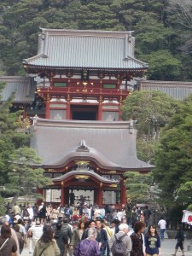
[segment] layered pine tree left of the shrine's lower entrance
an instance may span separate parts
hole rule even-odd
[[[20,195],[37,196],[36,188],[42,188],[51,183],[49,177],[44,177],[44,169],[37,153],[32,148],[18,148],[9,158],[9,183],[5,185],[8,193],[14,195],[14,201]]]

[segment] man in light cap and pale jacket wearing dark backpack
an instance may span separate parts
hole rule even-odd
[[[119,232],[113,235],[108,243],[113,256],[128,256],[131,252],[131,238],[127,235],[129,226],[119,224]]]

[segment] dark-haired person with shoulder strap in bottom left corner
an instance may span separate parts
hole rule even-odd
[[[11,229],[9,225],[3,224],[0,236],[0,256],[11,256],[16,251],[17,245],[15,239],[11,237]]]

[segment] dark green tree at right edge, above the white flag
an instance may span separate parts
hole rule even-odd
[[[182,191],[192,180],[191,115],[192,102],[183,102],[161,132],[153,176],[166,207],[184,207]]]

